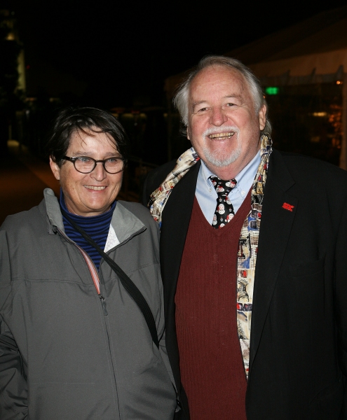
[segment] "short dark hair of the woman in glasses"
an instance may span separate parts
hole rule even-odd
[[[68,106],[57,112],[48,130],[46,152],[57,165],[62,165],[72,134],[76,132],[88,135],[106,133],[114,140],[121,157],[128,158],[128,137],[111,113],[97,108]]]

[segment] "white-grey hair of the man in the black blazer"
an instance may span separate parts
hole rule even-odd
[[[252,94],[255,112],[258,114],[261,107],[263,105],[266,105],[266,124],[264,130],[262,130],[261,133],[266,132],[268,134],[271,134],[272,128],[271,123],[268,120],[268,107],[264,98],[264,94],[261,90],[259,80],[254,76],[252,71],[247,66],[245,66],[245,64],[241,63],[238,59],[224,57],[223,55],[207,55],[206,57],[203,57],[203,59],[201,59],[198,65],[196,66],[196,69],[193,69],[193,71],[191,71],[191,73],[189,73],[189,75],[187,76],[186,80],[184,80],[184,82],[181,85],[179,85],[173,102],[177,107],[179,114],[181,115],[182,123],[184,124],[184,126],[187,127],[189,122],[188,106],[191,82],[198,75],[198,73],[200,73],[200,71],[210,66],[229,67],[242,74],[242,76],[246,80],[247,86],[250,90],[250,94]]]

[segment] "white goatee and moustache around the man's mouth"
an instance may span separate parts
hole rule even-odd
[[[210,134],[219,133],[219,132],[235,132],[234,136],[237,136],[237,145],[236,148],[231,153],[221,153],[219,150],[211,151],[210,148],[206,145],[206,137]],[[205,141],[205,146],[203,146],[203,153],[205,155],[205,160],[207,164],[210,163],[215,167],[227,167],[231,163],[235,162],[241,154],[241,142],[240,142],[240,130],[238,127],[220,127],[210,128],[203,133],[203,139]]]

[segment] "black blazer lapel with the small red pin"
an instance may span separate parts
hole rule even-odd
[[[250,377],[261,332],[266,321],[275,283],[297,211],[297,197],[287,193],[294,180],[282,155],[273,151],[268,165],[268,179],[261,212],[257,265],[254,278],[252,331],[250,338]]]

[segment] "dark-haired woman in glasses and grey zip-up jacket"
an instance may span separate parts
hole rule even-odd
[[[46,189],[0,228],[2,420],[173,419],[158,227],[116,201],[126,146],[109,113],[63,109],[48,137],[60,201]]]

